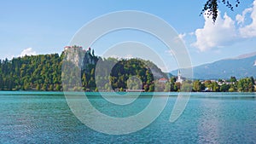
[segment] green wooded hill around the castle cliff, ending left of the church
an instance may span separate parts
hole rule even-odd
[[[32,55],[13,58],[12,60],[0,60],[0,90],[61,91],[66,88],[67,85],[65,84],[71,84],[72,87],[68,89],[85,91],[145,89],[145,91],[154,91],[154,77],[150,69],[154,69],[154,72],[160,77],[166,77],[150,61],[102,59],[90,55],[96,61],[102,61],[102,67],[98,69],[98,76],[95,76],[96,65],[88,64],[84,66],[86,69],[80,72],[80,76],[75,74],[79,71],[79,67],[72,66],[72,69],[66,69],[68,70],[68,78],[61,78],[64,56],[62,53],[61,55]],[[72,62],[71,65],[73,65]],[[132,79],[131,76],[134,78]],[[80,77],[81,85],[74,81],[77,79],[76,77]],[[138,83],[135,82],[137,79],[140,79]],[[61,83],[63,80],[64,85]]]

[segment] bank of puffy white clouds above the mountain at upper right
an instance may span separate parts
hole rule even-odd
[[[252,22],[246,25],[248,14]],[[242,14],[236,14],[236,20],[232,20],[226,13],[223,17],[220,12],[218,15],[215,24],[204,15],[205,25],[195,30],[196,42],[192,43],[192,46],[200,51],[206,51],[239,43],[245,38],[256,37],[256,0],[252,8],[244,9]]]

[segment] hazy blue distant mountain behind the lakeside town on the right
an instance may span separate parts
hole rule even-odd
[[[182,72],[183,70],[181,70]],[[209,64],[195,66],[193,68],[196,79],[228,79],[231,76],[236,78],[256,77],[256,52],[241,55],[232,59],[218,60]],[[177,73],[177,70],[172,71]]]

